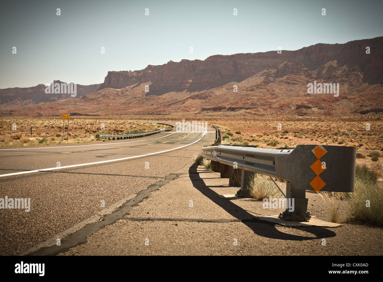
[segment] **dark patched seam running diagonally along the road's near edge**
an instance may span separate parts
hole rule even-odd
[[[116,221],[123,218],[125,214],[131,211],[131,209],[134,206],[136,206],[145,198],[149,197],[153,191],[159,190],[161,186],[169,183],[172,180],[175,180],[178,177],[179,177],[179,174],[177,173],[172,173],[170,175],[165,176],[164,179],[150,185],[145,190],[140,191],[136,197],[124,203],[121,206],[121,208],[117,209],[116,211],[113,211],[110,214],[103,216],[101,221],[87,224],[84,228],[81,228],[80,230],[65,237],[65,239],[62,239],[61,246],[53,245],[49,247],[43,247],[36,252],[27,254],[27,256],[54,256],[62,252],[66,252],[72,247],[76,247],[86,243],[88,236],[92,235],[93,233],[96,233],[97,231],[104,228],[105,226],[114,224]]]

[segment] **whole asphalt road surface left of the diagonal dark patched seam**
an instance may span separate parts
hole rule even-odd
[[[78,145],[1,149],[0,198],[30,198],[31,209],[0,209],[0,254],[23,253],[108,207],[116,208],[190,167],[201,146],[214,139],[214,129],[208,128]]]

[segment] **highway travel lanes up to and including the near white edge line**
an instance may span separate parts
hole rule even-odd
[[[207,129],[201,128],[198,132],[163,132],[139,139],[0,149],[0,177],[96,165],[169,152],[200,141],[205,132],[207,133]]]

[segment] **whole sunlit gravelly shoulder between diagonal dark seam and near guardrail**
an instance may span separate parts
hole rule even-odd
[[[201,167],[193,167],[185,167],[178,172],[183,173],[179,178],[134,206],[124,217],[126,219],[100,229],[89,236],[85,244],[62,255],[383,254],[382,229],[369,225],[342,223],[337,228],[291,228],[266,222],[129,220],[139,217],[248,219],[283,211],[263,209],[261,201],[219,198],[221,194],[234,194],[238,188],[228,187],[228,179],[219,178],[219,173],[206,173]],[[328,220],[326,198],[316,193],[306,193],[306,197],[312,215]],[[193,207],[189,206],[190,200],[193,200]],[[346,203],[338,203],[342,221],[347,217]],[[147,239],[149,246],[145,244]]]

